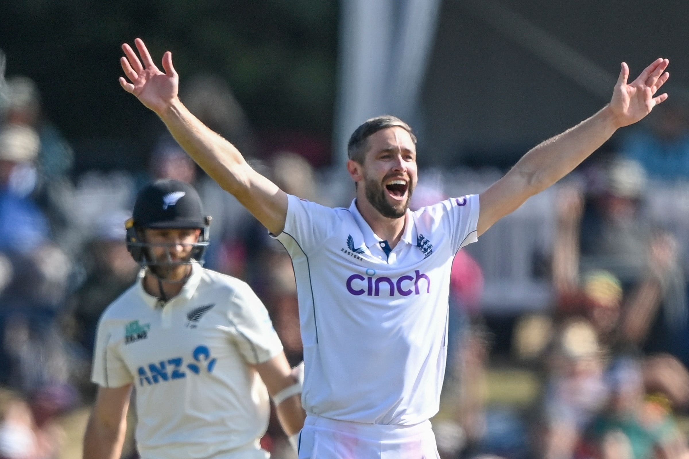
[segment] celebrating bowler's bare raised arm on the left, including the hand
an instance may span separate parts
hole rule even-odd
[[[129,81],[120,77],[120,85],[154,111],[189,156],[263,226],[271,233],[282,233],[287,217],[287,194],[251,169],[234,145],[206,127],[181,103],[177,96],[179,77],[172,66],[171,52],[163,54],[163,73],[154,64],[143,41],[136,39],[134,43],[143,65],[130,45],[122,45],[125,56],[120,63]]]

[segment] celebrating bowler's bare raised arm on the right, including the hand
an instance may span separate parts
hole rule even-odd
[[[623,62],[608,105],[528,151],[503,178],[481,193],[478,234],[573,171],[617,129],[641,120],[655,105],[666,100],[668,94],[654,95],[670,77],[665,72],[668,63],[667,59],[659,58],[635,81],[627,83],[629,67]]]

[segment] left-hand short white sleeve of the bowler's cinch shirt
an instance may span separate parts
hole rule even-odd
[[[287,195],[285,229],[273,237],[282,242],[290,255],[294,250],[309,255],[325,242],[337,224],[335,209]]]

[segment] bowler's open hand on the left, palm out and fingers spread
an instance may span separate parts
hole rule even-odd
[[[141,100],[143,105],[160,115],[177,98],[179,77],[172,67],[172,53],[167,51],[163,54],[163,70],[165,70],[163,73],[153,63],[143,41],[136,39],[134,44],[141,55],[143,65],[141,65],[141,61],[138,60],[132,47],[127,43],[123,44],[122,50],[125,52],[125,56],[120,58],[120,63],[131,83],[127,83],[125,78],[120,77],[120,85],[126,92],[134,94],[138,100]]]

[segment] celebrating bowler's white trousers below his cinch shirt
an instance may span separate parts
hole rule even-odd
[[[350,423],[309,414],[299,459],[440,459],[430,421],[411,426]]]

